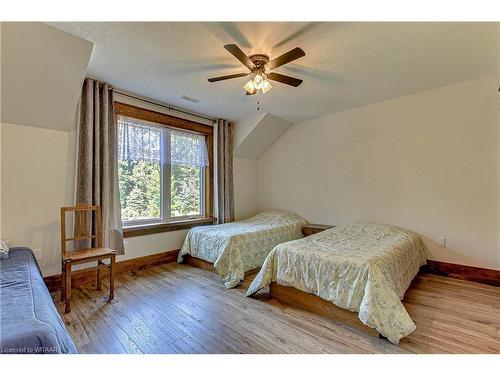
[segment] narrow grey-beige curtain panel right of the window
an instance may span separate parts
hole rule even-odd
[[[217,120],[217,219],[219,224],[234,221],[233,137],[234,125]]]

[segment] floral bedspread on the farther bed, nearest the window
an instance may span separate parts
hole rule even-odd
[[[250,219],[191,229],[177,262],[185,254],[214,264],[226,288],[234,288],[246,271],[259,268],[278,244],[302,237],[307,221],[298,215],[265,211]]]

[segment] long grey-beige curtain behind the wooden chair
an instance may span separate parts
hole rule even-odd
[[[101,206],[103,245],[123,254],[117,159],[118,129],[113,89],[106,83],[87,78],[82,88],[78,129],[76,204]],[[82,248],[89,244],[75,245]]]

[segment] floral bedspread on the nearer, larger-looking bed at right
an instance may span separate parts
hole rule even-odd
[[[247,296],[271,282],[292,286],[358,312],[364,324],[398,344],[416,328],[401,299],[425,263],[422,240],[413,232],[342,225],[276,246]]]

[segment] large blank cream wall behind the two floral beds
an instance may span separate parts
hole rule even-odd
[[[490,77],[297,123],[259,160],[259,209],[396,224],[429,259],[500,269],[497,90]]]

